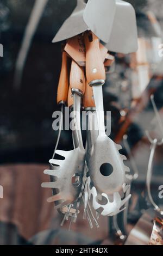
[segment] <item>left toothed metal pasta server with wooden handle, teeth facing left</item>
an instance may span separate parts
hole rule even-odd
[[[73,203],[80,194],[83,184],[85,165],[85,150],[83,147],[80,130],[80,99],[85,90],[84,70],[73,60],[71,65],[70,86],[74,94],[74,124],[78,136],[78,148],[71,151],[56,150],[56,154],[65,157],[64,160],[51,159],[53,170],[45,170],[45,174],[54,176],[54,182],[46,182],[42,187],[55,188],[57,194],[48,199],[49,202],[57,202],[55,208]],[[73,183],[74,177],[77,182]]]

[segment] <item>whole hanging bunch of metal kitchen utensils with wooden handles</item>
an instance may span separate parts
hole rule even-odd
[[[130,198],[129,168],[123,162],[126,156],[119,152],[121,145],[105,133],[102,87],[105,70],[114,62],[112,52],[137,50],[135,11],[129,3],[120,0],[89,0],[87,4],[78,0],[76,9],[53,42],[62,40],[66,40],[66,45],[62,52],[58,103],[65,105],[68,101],[68,106],[73,108],[74,149],[56,150],[57,144],[54,155],[65,159],[54,159],[53,155],[49,160],[50,170],[44,172],[51,176],[51,182],[42,186],[53,189],[53,196],[48,201],[54,202],[55,208],[65,214],[62,224],[69,216],[71,222],[76,221],[83,199],[84,218],[87,217],[91,227],[92,220],[98,227],[99,215],[117,215]],[[67,58],[71,59],[69,80]],[[89,119],[85,149],[80,127],[81,103]]]

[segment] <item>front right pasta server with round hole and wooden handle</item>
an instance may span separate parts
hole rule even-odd
[[[105,82],[105,69],[99,51],[99,39],[92,32],[85,33],[86,46],[86,77],[87,82],[93,87],[95,99],[98,138],[93,144],[89,162],[88,185],[90,195],[92,195],[92,204],[95,210],[102,209],[102,215],[115,215],[120,212],[121,207],[130,198],[121,200],[121,192],[126,193],[128,185],[126,184],[126,172],[129,168],[124,166],[123,160],[126,157],[121,155],[118,150],[122,147],[115,144],[105,134],[104,108],[102,86]],[[109,196],[113,195],[113,202],[110,202]],[[97,197],[103,200],[105,204],[99,204]]]

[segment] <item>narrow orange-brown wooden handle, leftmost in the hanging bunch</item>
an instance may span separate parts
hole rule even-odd
[[[59,77],[57,103],[66,103],[68,94],[68,68],[67,68],[67,53],[62,52],[62,66]]]

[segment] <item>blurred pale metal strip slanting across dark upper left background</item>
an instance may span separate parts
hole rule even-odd
[[[29,21],[24,32],[22,45],[20,51],[18,52],[16,60],[16,68],[14,75],[14,89],[18,90],[21,86],[22,74],[24,70],[24,65],[26,63],[27,54],[33,39],[33,36],[36,32],[37,26],[39,25],[43,11],[45,10],[48,0],[35,0],[35,4],[30,14]]]

